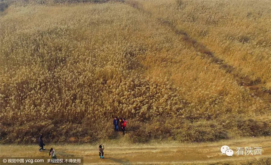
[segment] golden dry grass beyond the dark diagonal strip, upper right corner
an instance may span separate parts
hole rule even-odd
[[[270,89],[270,1],[147,1],[140,5],[187,31],[244,77]]]

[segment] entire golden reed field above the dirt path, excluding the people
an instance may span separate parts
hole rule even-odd
[[[270,6],[1,1],[0,142],[270,136]]]

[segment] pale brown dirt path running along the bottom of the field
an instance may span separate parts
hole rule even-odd
[[[97,146],[93,145],[46,145],[54,147],[58,158],[65,156],[84,157],[84,164],[180,164],[180,163],[226,163],[244,162],[271,158],[271,137],[243,138],[209,143],[149,143],[130,145],[121,141],[104,143],[104,159],[98,157]],[[228,145],[232,157],[221,154],[220,147]],[[121,147],[123,146],[123,147]],[[237,147],[262,147],[262,155],[237,155]],[[1,145],[1,157],[48,157],[48,151],[39,152],[37,145]],[[8,152],[6,152],[8,151]],[[254,151],[252,152],[254,154]],[[2,163],[2,162],[1,162]]]

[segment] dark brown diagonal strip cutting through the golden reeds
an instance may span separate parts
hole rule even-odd
[[[149,17],[154,17],[150,11],[145,10],[140,6],[140,4],[136,1],[126,0],[125,3],[127,5],[132,6],[133,8],[138,9]],[[154,17],[155,18],[155,17]],[[267,90],[261,87],[261,79],[252,80],[249,76],[245,76],[244,74],[238,72],[232,65],[226,63],[223,59],[217,57],[213,51],[207,48],[201,42],[198,42],[195,39],[192,39],[187,32],[177,28],[174,23],[170,22],[170,20],[165,20],[163,18],[155,18],[161,25],[164,25],[170,28],[176,35],[182,36],[182,40],[191,45],[196,52],[199,52],[200,56],[204,55],[204,58],[209,58],[210,62],[216,65],[219,65],[219,68],[225,70],[226,73],[230,73],[233,75],[235,81],[239,84],[239,86],[244,86],[251,90],[254,96],[265,98],[269,103],[271,103],[271,89]]]

